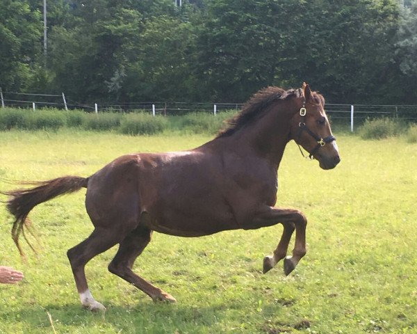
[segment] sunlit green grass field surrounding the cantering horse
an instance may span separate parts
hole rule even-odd
[[[342,162],[320,170],[290,143],[279,168],[278,206],[309,218],[308,253],[285,277],[263,275],[281,225],[183,239],[154,234],[136,271],[172,294],[154,303],[107,271],[115,248],[86,272],[106,313],[83,310],[66,250],[92,231],[85,190],[36,207],[39,255],[24,264],[0,206],[0,264],[24,271],[0,286],[0,333],[417,333],[417,144],[337,134]],[[88,176],[121,154],[193,148],[204,135],[0,132],[0,178]],[[0,181],[0,189],[13,186]],[[49,320],[49,315],[51,321]]]

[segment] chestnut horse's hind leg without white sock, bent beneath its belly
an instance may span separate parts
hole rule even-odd
[[[132,271],[136,257],[138,257],[147,244],[149,244],[151,237],[152,230],[141,225],[138,226],[136,230],[130,232],[120,242],[119,250],[108,265],[108,270],[142,290],[142,292],[145,292],[145,294],[150,296],[153,301],[175,302],[176,300],[173,296],[163,292],[163,290],[155,287]]]

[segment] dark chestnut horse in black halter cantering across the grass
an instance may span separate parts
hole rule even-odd
[[[3,192],[13,216],[13,239],[27,228],[28,213],[42,202],[87,188],[85,207],[95,229],[68,250],[81,303],[105,310],[88,289],[85,264],[109,248],[119,249],[108,270],[154,301],[174,297],[132,271],[133,262],[151,240],[152,232],[199,237],[223,230],[252,230],[281,223],[284,230],[263,272],[284,259],[291,273],[306,253],[306,217],[296,209],[274,207],[277,169],[292,139],[317,159],[323,169],[340,161],[324,110],[322,95],[302,88],[260,90],[226,129],[199,148],[183,152],[127,154],[90,177],[65,176],[31,182],[32,189]],[[300,149],[301,150],[301,149]],[[295,230],[292,256],[286,257]]]

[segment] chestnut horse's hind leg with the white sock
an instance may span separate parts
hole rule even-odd
[[[117,239],[115,231],[96,228],[90,234],[90,237],[67,251],[72,273],[74,274],[76,289],[79,292],[81,304],[85,308],[92,311],[106,310],[104,305],[94,299],[90,289],[88,289],[88,283],[85,278],[85,264],[96,255],[115,246],[119,241],[120,239]]]

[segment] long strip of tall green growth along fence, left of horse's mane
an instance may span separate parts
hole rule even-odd
[[[60,127],[122,134],[158,134],[164,131],[215,134],[236,111],[223,111],[217,116],[208,113],[189,113],[183,116],[152,116],[149,113],[85,113],[58,109],[0,109],[0,131],[10,129],[53,130]]]

